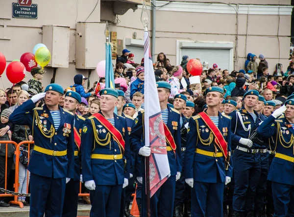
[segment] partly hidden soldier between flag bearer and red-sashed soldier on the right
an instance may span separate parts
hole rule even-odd
[[[177,94],[174,96],[173,106],[178,112],[180,112],[181,119],[181,151],[182,151],[182,163],[184,163],[185,159],[185,150],[186,150],[186,136],[188,129],[188,119],[183,115],[182,111],[186,105],[187,97],[183,94]],[[186,128],[185,128],[186,126]],[[173,217],[181,217],[183,216],[183,208],[184,208],[184,200],[187,198],[185,210],[189,210],[191,213],[191,193],[188,195],[185,193],[185,178],[183,176],[184,170],[182,170],[182,175],[180,179],[175,184],[175,197],[174,197],[174,211]],[[189,187],[189,186],[188,186]],[[190,187],[187,192],[191,191]],[[189,204],[190,202],[190,204]],[[191,215],[191,214],[190,214]]]

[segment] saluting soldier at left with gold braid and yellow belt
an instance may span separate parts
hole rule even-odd
[[[73,113],[58,106],[63,88],[49,84],[17,108],[9,117],[13,124],[28,125],[35,146],[30,157],[30,216],[61,216],[66,183],[74,177]],[[45,97],[45,106],[35,108]]]

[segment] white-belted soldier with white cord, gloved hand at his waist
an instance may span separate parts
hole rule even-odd
[[[260,114],[254,110],[258,97],[257,90],[249,90],[244,94],[244,107],[230,114],[232,149],[235,150],[233,208],[237,217],[245,216],[245,212],[247,217],[253,217],[255,191],[261,173],[261,146],[249,139],[261,122]]]

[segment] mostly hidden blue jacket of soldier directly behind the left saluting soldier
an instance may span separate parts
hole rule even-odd
[[[75,119],[74,127],[76,128],[77,133],[81,136],[82,127],[83,127],[83,123],[85,121],[85,118],[75,114],[74,119]],[[78,151],[78,156],[74,156],[74,177],[73,177],[73,180],[79,181],[80,174],[81,174],[81,161],[80,161],[81,155],[80,155],[80,147],[78,147],[76,143],[74,145],[74,151]]]

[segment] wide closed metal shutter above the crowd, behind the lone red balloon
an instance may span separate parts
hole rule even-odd
[[[201,63],[207,61],[209,68],[217,63],[219,69],[230,70],[230,49],[181,48],[181,61],[183,55],[188,55],[190,59],[199,58]]]

